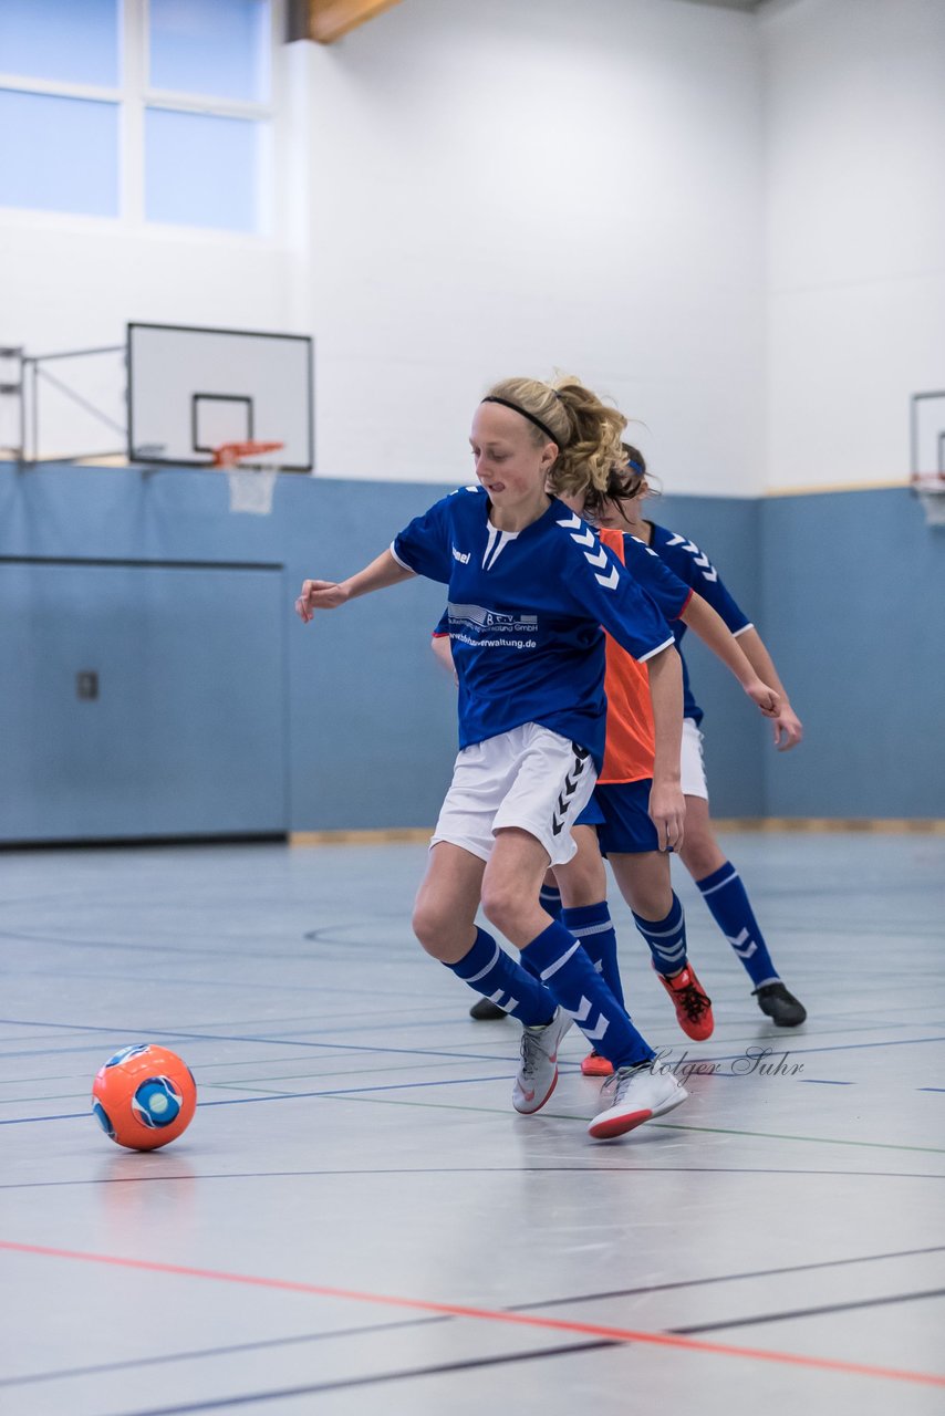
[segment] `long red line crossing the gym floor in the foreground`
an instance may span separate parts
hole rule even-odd
[[[47,1259],[78,1259],[84,1263],[136,1269],[145,1273],[169,1273],[183,1279],[213,1279],[217,1283],[241,1283],[256,1289],[276,1289],[282,1293],[307,1293],[319,1298],[344,1298],[351,1303],[374,1303],[418,1313],[443,1313],[456,1318],[477,1318],[486,1323],[507,1323],[550,1332],[572,1332],[581,1337],[602,1337],[613,1342],[643,1342],[649,1347],[669,1347],[686,1352],[710,1352],[715,1357],[744,1357],[755,1362],[779,1362],[785,1366],[806,1366],[820,1372],[844,1372],[851,1376],[877,1376],[891,1382],[918,1382],[924,1386],[945,1386],[945,1376],[935,1372],[910,1372],[894,1366],[868,1366],[843,1362],[829,1357],[802,1357],[798,1352],[771,1352],[755,1347],[732,1347],[728,1342],[700,1342],[672,1332],[639,1332],[635,1328],[604,1327],[596,1323],[568,1323],[562,1318],[528,1317],[526,1313],[503,1313],[494,1308],[469,1308],[459,1303],[432,1303],[426,1298],[392,1297],[385,1293],[358,1293],[354,1289],[333,1289],[320,1283],[300,1283],[292,1279],[266,1279],[251,1273],[224,1273],[218,1269],[191,1269],[177,1263],[156,1263],[150,1259],[122,1259],[109,1253],[81,1253],[75,1249],[47,1249],[44,1245],[14,1243],[0,1239],[0,1250],[31,1253]]]

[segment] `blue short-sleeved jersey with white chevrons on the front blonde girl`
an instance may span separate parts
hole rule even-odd
[[[459,746],[526,722],[604,760],[604,634],[643,663],[667,649],[666,620],[618,558],[553,498],[523,531],[489,521],[466,487],[417,517],[391,545],[408,571],[449,586],[459,678]]]

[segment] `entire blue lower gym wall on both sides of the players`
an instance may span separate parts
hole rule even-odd
[[[309,626],[292,603],[443,490],[286,476],[251,517],[217,473],[0,467],[0,840],[432,826],[455,755],[443,589]],[[708,551],[808,729],[776,755],[690,634],[715,814],[945,816],[945,531],[908,493],[650,514]]]

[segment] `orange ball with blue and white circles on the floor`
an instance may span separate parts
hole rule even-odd
[[[197,1106],[194,1073],[152,1042],[122,1048],[95,1073],[92,1114],[116,1146],[157,1150],[186,1131]]]

